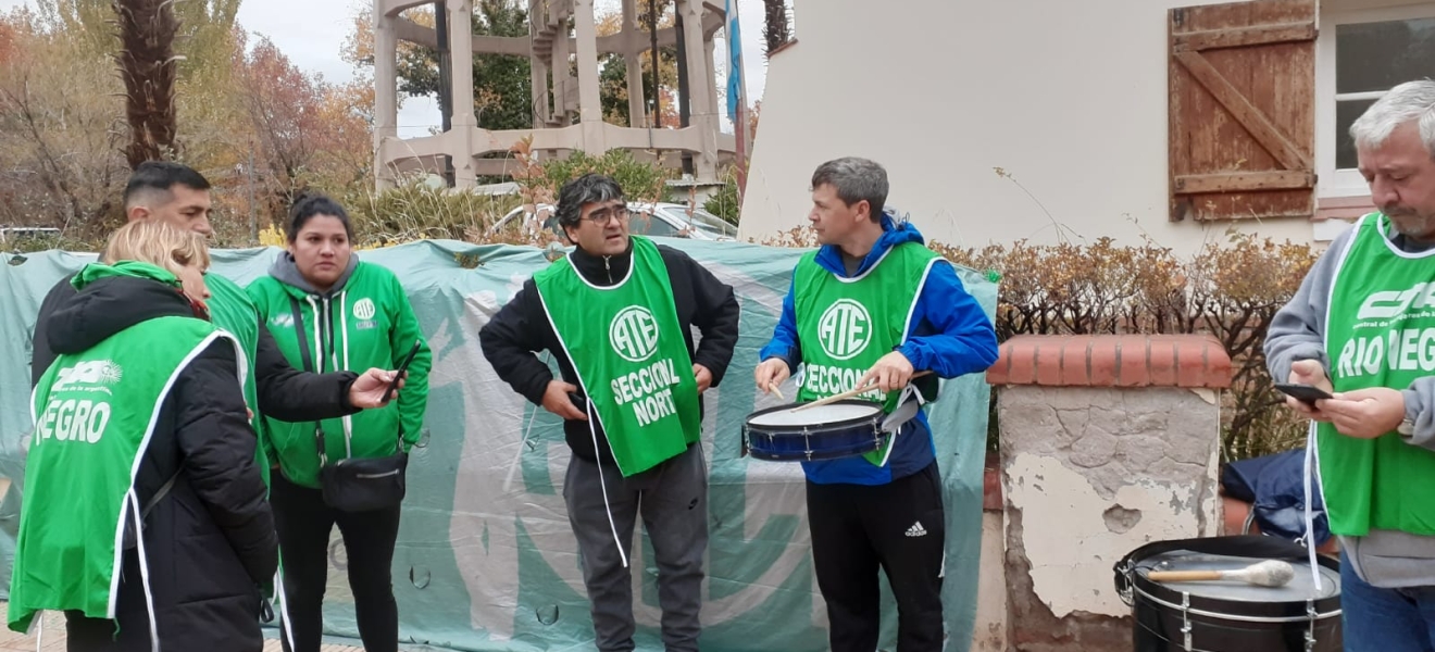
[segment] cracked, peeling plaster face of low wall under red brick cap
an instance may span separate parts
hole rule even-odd
[[[1010,599],[1039,602],[1056,619],[1126,616],[1112,565],[1148,542],[1214,536],[1215,397],[1174,387],[1003,387],[1007,520],[1015,513],[1023,523],[1007,527],[1007,572],[1029,567],[1033,593]],[[1013,615],[1027,608],[1013,605]]]

